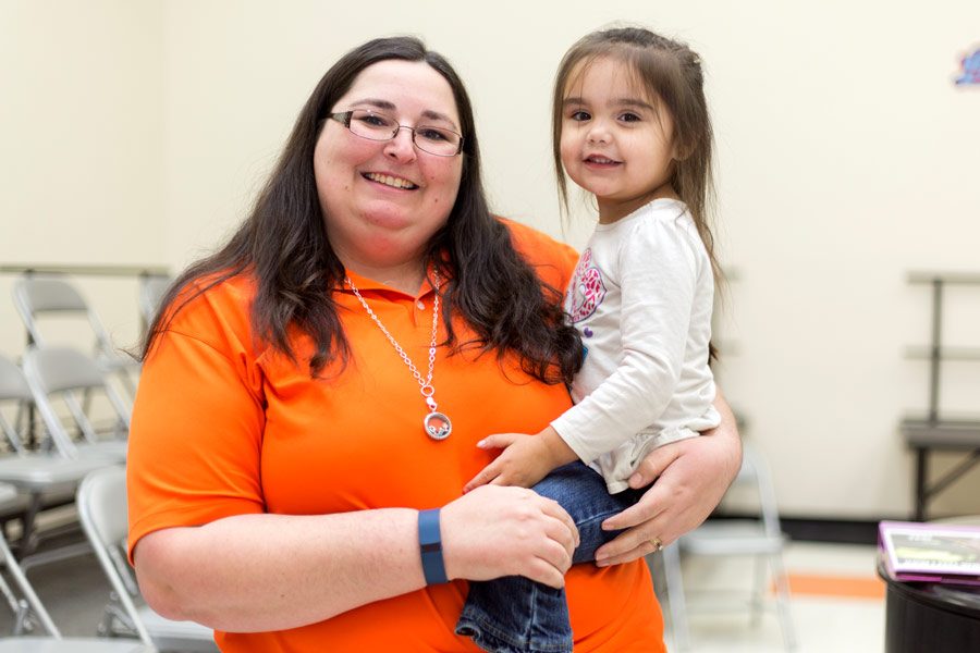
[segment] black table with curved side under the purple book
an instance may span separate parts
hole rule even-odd
[[[885,581],[885,653],[980,652],[980,587]]]

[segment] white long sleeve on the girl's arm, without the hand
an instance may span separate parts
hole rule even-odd
[[[710,372],[695,370],[690,358],[690,352],[702,349],[703,359],[697,362],[706,370],[713,289],[703,246],[679,215],[647,215],[630,226],[617,244],[612,278],[604,280],[620,288],[617,323],[589,323],[597,330],[597,343],[598,330],[617,329],[618,348],[608,350],[584,338],[587,367],[576,378],[576,387],[585,383],[590,392],[551,424],[587,464],[662,418],[682,373],[688,374],[687,392],[695,382],[713,385]],[[602,378],[605,369],[612,372]],[[708,390],[706,385],[703,394],[711,396]]]

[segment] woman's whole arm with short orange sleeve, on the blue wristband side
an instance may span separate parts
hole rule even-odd
[[[272,464],[264,458],[264,445],[271,440],[266,391],[274,364],[254,350],[249,288],[240,279],[188,304],[143,368],[127,500],[133,562],[147,601],[171,618],[261,631],[317,623],[419,590],[425,580],[417,510],[267,513],[267,492],[289,495],[290,482],[297,494],[335,488],[295,456],[277,459],[278,476],[264,473],[262,463]],[[295,373],[287,370],[280,373]],[[321,387],[305,370],[298,374],[301,390]],[[277,415],[283,419],[287,411],[280,405]],[[382,454],[362,455],[373,460]],[[297,478],[289,478],[290,470]],[[452,501],[440,526],[449,578],[522,575],[561,587],[577,538],[556,503],[520,488],[485,488]]]

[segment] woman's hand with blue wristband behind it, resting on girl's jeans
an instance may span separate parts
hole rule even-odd
[[[442,508],[440,527],[450,579],[524,576],[561,588],[578,546],[564,508],[524,488],[476,488]]]

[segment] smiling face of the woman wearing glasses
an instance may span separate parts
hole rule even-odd
[[[387,114],[407,127],[462,133],[449,82],[425,62],[390,60],[364,69],[330,111],[353,109]],[[412,134],[400,130],[391,140],[369,140],[335,120],[320,133],[314,171],[327,237],[341,261],[358,272],[420,262],[455,202],[463,157],[421,151]]]

